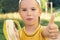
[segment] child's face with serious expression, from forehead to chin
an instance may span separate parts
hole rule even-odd
[[[34,25],[38,23],[38,17],[40,16],[39,5],[35,0],[23,0],[19,13],[26,25]]]

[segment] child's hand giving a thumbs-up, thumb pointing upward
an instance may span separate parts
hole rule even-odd
[[[49,38],[56,39],[58,37],[58,26],[54,23],[55,15],[51,16],[51,20],[46,27],[46,31],[48,32]]]

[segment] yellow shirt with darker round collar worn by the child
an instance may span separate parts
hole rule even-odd
[[[25,28],[23,28],[20,37],[21,40],[48,40],[42,36],[42,28],[40,25],[32,34],[27,34]]]

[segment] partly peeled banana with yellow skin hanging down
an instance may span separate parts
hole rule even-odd
[[[14,27],[15,24],[18,27],[18,33],[20,36],[21,26],[17,20],[5,20],[3,25],[3,33],[6,38],[6,40],[18,40],[18,38],[15,35]],[[16,28],[16,27],[15,27]]]

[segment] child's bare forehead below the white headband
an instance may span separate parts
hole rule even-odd
[[[36,0],[22,0],[21,7],[37,7],[38,3]]]

